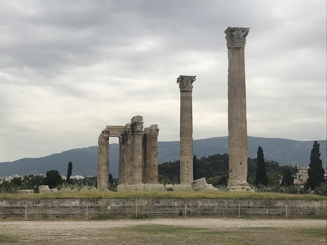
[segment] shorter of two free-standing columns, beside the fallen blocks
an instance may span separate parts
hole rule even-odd
[[[179,76],[180,90],[180,184],[191,185],[193,181],[193,119],[192,88],[196,76]]]

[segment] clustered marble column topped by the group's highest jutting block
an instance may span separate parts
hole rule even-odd
[[[131,120],[131,135],[132,135],[132,169],[133,169],[133,184],[142,184],[142,166],[143,166],[143,148],[142,148],[142,131],[143,117],[134,116]]]

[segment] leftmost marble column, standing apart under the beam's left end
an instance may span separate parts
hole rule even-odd
[[[102,131],[98,144],[98,190],[106,191],[109,187],[109,132]]]

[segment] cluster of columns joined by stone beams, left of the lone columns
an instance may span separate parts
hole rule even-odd
[[[143,117],[125,126],[107,126],[99,136],[98,190],[108,190],[109,137],[119,137],[119,185],[158,183],[158,125],[143,129]]]

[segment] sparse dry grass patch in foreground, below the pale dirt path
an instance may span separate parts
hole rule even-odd
[[[112,243],[120,244],[325,244],[325,229],[198,228],[136,225],[110,228]],[[324,238],[324,239],[321,239]]]

